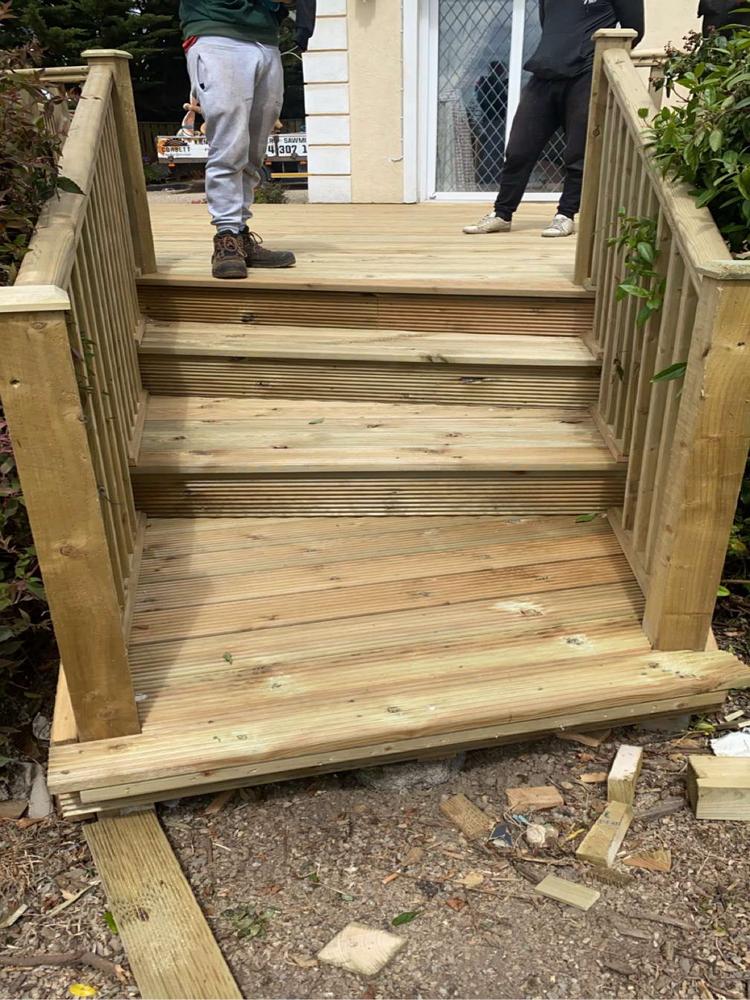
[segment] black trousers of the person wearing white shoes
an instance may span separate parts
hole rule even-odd
[[[565,133],[565,183],[558,211],[572,219],[581,206],[583,158],[591,96],[591,73],[569,80],[532,76],[523,89],[510,130],[495,213],[510,220],[523,198],[531,171],[558,130]]]

